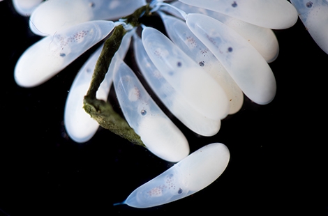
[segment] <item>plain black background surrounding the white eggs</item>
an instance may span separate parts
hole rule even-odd
[[[13,79],[15,63],[40,37],[29,31],[29,18],[18,15],[11,1],[0,2],[0,16],[0,215],[195,210],[203,215],[328,215],[328,55],[300,21],[275,31],[280,54],[269,64],[278,89],[273,102],[260,106],[246,98],[241,111],[224,119],[214,137],[198,137],[177,122],[191,151],[211,142],[228,146],[231,158],[222,176],[185,199],[137,209],[112,204],[172,163],[104,129],[85,144],[70,140],[63,125],[64,105],[91,52],[45,84],[22,88]]]

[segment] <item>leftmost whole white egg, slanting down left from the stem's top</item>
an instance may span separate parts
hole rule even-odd
[[[16,83],[23,87],[42,84],[105,38],[112,29],[114,22],[111,21],[84,22],[39,40],[18,59],[14,72]]]

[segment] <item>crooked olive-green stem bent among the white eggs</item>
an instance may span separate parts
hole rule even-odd
[[[110,67],[114,54],[121,45],[123,37],[128,31],[131,31],[133,27],[140,26],[142,24],[140,19],[144,16],[151,15],[151,9],[149,4],[147,4],[135,10],[133,14],[123,17],[119,22],[115,23],[114,31],[110,37],[105,40],[103,49],[96,62],[89,90],[87,91],[87,95],[84,96],[83,101],[84,110],[91,118],[94,118],[100,126],[140,146],[144,146],[140,136],[135,133],[124,118],[114,111],[109,102],[98,100],[96,98],[96,93],[100,84],[105,79],[107,70]]]

